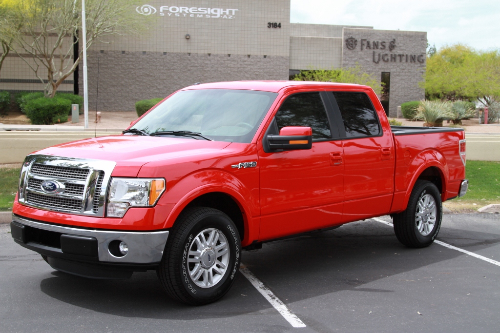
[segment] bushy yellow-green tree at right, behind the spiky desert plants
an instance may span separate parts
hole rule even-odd
[[[485,105],[500,100],[500,53],[476,51],[456,44],[427,56],[426,98],[479,100]]]

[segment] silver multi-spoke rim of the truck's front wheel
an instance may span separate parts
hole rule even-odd
[[[189,246],[187,265],[192,282],[201,288],[215,286],[222,280],[229,263],[229,247],[217,229],[201,231]]]

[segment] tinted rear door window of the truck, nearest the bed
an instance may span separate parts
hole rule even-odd
[[[342,115],[345,136],[372,136],[380,133],[378,119],[365,93],[333,92]]]

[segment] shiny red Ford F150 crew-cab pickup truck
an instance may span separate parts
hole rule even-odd
[[[463,130],[391,127],[367,86],[197,84],[122,135],[28,155],[11,232],[56,270],[156,270],[173,299],[206,304],[271,240],[389,214],[402,244],[428,246],[464,166]]]

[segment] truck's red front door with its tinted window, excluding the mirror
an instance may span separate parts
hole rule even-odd
[[[266,153],[259,145],[259,240],[327,228],[341,221],[343,150],[325,102],[329,100],[323,92],[288,96],[266,132],[278,134],[285,126],[311,127],[311,149]]]

